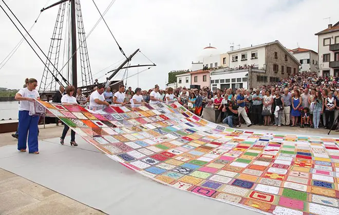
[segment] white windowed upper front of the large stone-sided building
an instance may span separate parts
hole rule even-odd
[[[229,54],[230,68],[243,65],[254,65],[256,68],[265,68],[265,45],[251,46],[227,52]]]

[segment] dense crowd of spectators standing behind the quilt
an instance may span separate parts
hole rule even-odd
[[[149,90],[119,88],[119,95],[116,90],[110,92],[110,88],[105,84],[104,97],[108,103],[117,104],[116,99],[121,98],[124,93],[123,105],[135,102],[178,101],[198,116],[202,115],[205,107],[211,107],[222,112],[223,123],[230,127],[245,122],[248,126],[310,126],[315,129],[330,129],[333,125],[337,130],[338,79],[339,77],[319,77],[317,73],[307,72],[248,90],[230,88],[212,91],[209,87],[162,90],[156,85]],[[78,92],[77,98],[84,102],[79,93],[81,92]],[[138,98],[138,101],[134,98]]]

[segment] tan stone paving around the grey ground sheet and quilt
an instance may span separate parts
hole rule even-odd
[[[60,137],[63,126],[50,127],[40,130],[39,139]],[[247,129],[246,125],[240,128]],[[328,130],[300,127],[251,126],[251,130],[265,130],[272,132],[294,133],[303,135],[325,136]],[[331,132],[331,136],[339,136],[338,132]],[[17,144],[11,133],[0,134],[0,147]],[[54,192],[39,184],[33,183],[20,176],[14,175],[0,168],[0,214],[105,214],[88,207],[68,197]]]

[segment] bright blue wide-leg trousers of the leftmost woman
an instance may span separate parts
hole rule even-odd
[[[30,116],[29,111],[19,111],[19,138],[17,141],[17,149],[26,149],[28,136],[28,150],[29,153],[39,152],[37,142],[37,123],[39,123],[39,116]]]

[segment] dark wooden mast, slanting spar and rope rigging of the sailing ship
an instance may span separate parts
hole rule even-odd
[[[30,42],[26,39],[24,35],[24,33],[26,32],[26,35],[28,35],[33,40],[35,45],[40,49],[40,47],[36,44],[35,40],[30,36],[29,31],[27,31],[25,27],[21,24],[20,20],[16,18],[15,14],[8,7],[5,1],[2,0],[2,2],[4,3],[5,7],[0,5],[1,9],[3,9],[8,18],[12,21],[13,25],[22,34],[23,39],[25,39],[26,42],[28,42],[28,44],[30,45]],[[155,63],[150,61],[149,58],[147,58],[144,54],[143,55],[151,63],[146,65],[131,65],[130,62],[132,58],[137,53],[141,52],[140,49],[137,49],[135,52],[133,52],[130,56],[127,57],[122,47],[119,45],[118,41],[110,31],[109,26],[107,25],[104,19],[104,15],[107,13],[112,3],[114,2],[115,0],[112,0],[109,7],[107,7],[104,13],[101,13],[95,1],[93,0],[96,9],[100,13],[100,19],[98,20],[96,26],[101,20],[105,22],[105,25],[108,28],[109,32],[111,33],[111,36],[115,39],[121,54],[125,58],[125,60],[116,69],[106,72],[107,75],[109,74],[108,77],[108,80],[110,81],[109,86],[112,89],[118,89],[119,84],[123,83],[124,79],[127,82],[129,68],[147,67],[147,69],[150,69],[156,65]],[[90,92],[92,92],[94,88],[94,81],[88,56],[86,42],[87,37],[84,30],[80,0],[61,0],[46,8],[43,8],[41,10],[41,13],[50,8],[58,6],[59,6],[58,15],[56,16],[54,30],[50,40],[50,47],[48,53],[45,54],[40,49],[40,51],[46,57],[46,60],[43,61],[39,54],[37,54],[36,50],[30,45],[35,54],[41,59],[41,61],[45,65],[39,87],[39,92],[43,100],[51,100],[53,94],[56,91],[59,91],[60,86],[66,87],[67,85],[73,85],[73,87],[76,89],[81,88],[85,95],[88,95]],[[15,17],[16,22],[14,22],[15,20],[13,20],[9,16],[10,13],[12,14],[12,16]],[[17,23],[22,26],[25,32],[22,32],[22,30],[20,30],[17,27]],[[92,30],[94,30],[95,27],[93,27]],[[61,53],[63,53],[63,57],[60,56]],[[61,58],[63,59],[62,63]],[[66,62],[64,62],[65,58]],[[78,71],[78,59],[80,59],[79,63],[80,71]],[[112,78],[114,78],[121,70],[125,70],[122,80],[112,80]],[[78,72],[81,73],[81,77],[78,76]],[[78,81],[79,79],[80,81]]]

